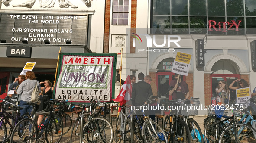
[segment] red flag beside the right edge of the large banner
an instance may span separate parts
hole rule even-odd
[[[128,75],[119,95],[117,96],[116,99],[113,99],[113,101],[119,102],[120,105],[123,105],[127,101],[129,101],[131,97],[132,97],[132,84],[131,84],[130,76]]]

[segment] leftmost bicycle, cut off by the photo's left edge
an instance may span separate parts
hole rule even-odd
[[[23,109],[22,107],[19,107],[16,104],[11,103],[11,99],[16,99],[17,97],[14,98],[6,98],[6,99],[1,99],[3,102],[0,103],[1,106],[1,111],[0,111],[0,142],[5,143],[8,139],[7,137],[7,127],[6,124],[9,124],[10,129],[9,129],[9,134],[12,134],[12,131],[14,129],[14,127],[16,126],[16,124],[22,120],[23,118],[30,118],[29,114],[24,114],[22,116],[20,116],[19,114],[19,110]],[[3,107],[5,106],[13,106],[14,110],[4,110]],[[9,113],[14,113],[16,112],[16,115],[13,117],[12,115],[10,115]],[[9,121],[9,118],[13,121],[13,124],[11,124],[11,122]],[[5,120],[5,122],[3,121]]]

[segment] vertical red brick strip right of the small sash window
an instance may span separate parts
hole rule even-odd
[[[132,0],[131,33],[136,33],[136,21],[137,21],[137,0]],[[135,53],[135,47],[133,47],[133,36],[130,36],[130,53]]]

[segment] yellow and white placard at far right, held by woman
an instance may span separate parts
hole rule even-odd
[[[237,104],[245,103],[251,98],[250,87],[237,89]]]

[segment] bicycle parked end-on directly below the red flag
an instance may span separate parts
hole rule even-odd
[[[133,126],[132,122],[127,118],[126,114],[123,112],[125,105],[112,106],[111,108],[119,107],[121,108],[120,114],[117,118],[117,125],[115,130],[115,142],[121,143],[133,143]]]

